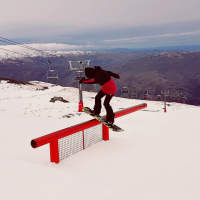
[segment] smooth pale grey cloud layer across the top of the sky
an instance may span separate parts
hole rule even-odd
[[[1,0],[1,5],[0,34],[13,26],[14,34],[25,30],[21,34],[30,35],[39,25],[52,35],[57,29],[76,34],[200,20],[199,0]]]

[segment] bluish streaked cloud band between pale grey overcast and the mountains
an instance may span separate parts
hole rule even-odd
[[[65,29],[68,27],[62,29],[62,26],[57,25],[42,27],[29,24],[25,29],[23,27],[20,27],[18,31],[10,29],[8,33],[1,34],[3,27],[0,30],[0,36],[44,51],[148,48],[200,44],[199,27],[200,20],[197,20],[129,28],[120,26],[117,28],[94,27],[93,30],[84,28],[76,33],[67,34]],[[76,28],[75,26],[74,30]],[[5,45],[5,43],[0,41],[0,45]],[[6,48],[23,51],[23,48],[18,48],[18,46],[10,45]]]

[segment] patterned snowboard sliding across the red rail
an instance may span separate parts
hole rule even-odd
[[[111,129],[112,131],[116,131],[116,132],[121,132],[124,131],[123,129],[121,129],[119,126],[116,126],[115,124],[108,124],[106,122],[106,119],[100,115],[92,115],[92,110],[88,107],[83,107],[82,111],[87,113],[88,115],[90,115],[91,117],[94,117],[96,120],[100,121],[102,124],[104,124],[105,126],[107,126],[109,129]]]

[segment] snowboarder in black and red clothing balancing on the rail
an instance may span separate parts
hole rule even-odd
[[[119,74],[113,73],[111,71],[105,71],[100,66],[95,66],[94,68],[92,67],[85,68],[85,75],[88,79],[85,78],[81,79],[79,81],[80,84],[98,83],[99,85],[102,86],[101,90],[95,97],[93,115],[99,115],[101,113],[101,99],[102,97],[106,96],[104,100],[104,106],[106,109],[106,122],[109,124],[113,124],[115,114],[113,113],[113,109],[110,106],[110,100],[117,92],[117,87],[111,76],[119,79],[120,78]]]

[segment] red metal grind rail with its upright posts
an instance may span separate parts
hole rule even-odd
[[[115,118],[130,114],[132,112],[141,110],[143,108],[146,108],[147,104],[139,104],[137,106],[133,106],[127,109],[120,110],[115,113]],[[103,116],[105,118],[105,116]],[[79,131],[83,131],[85,129],[88,129],[90,127],[96,126],[98,124],[101,124],[101,122],[97,121],[96,119],[92,119],[90,121],[86,121],[83,123],[80,123],[75,126],[71,126],[65,129],[62,129],[60,131],[56,131],[53,133],[50,133],[48,135],[44,135],[42,137],[33,139],[31,141],[31,146],[33,148],[38,148],[40,146],[43,146],[45,144],[50,144],[50,156],[51,156],[51,162],[59,163],[59,150],[58,150],[58,140],[60,138],[72,135],[74,133],[77,133]],[[107,126],[103,125],[103,140],[109,140],[109,129]]]

